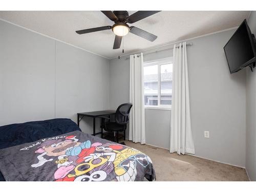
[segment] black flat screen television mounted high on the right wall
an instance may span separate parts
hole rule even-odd
[[[246,19],[228,40],[224,51],[230,73],[236,73],[255,62],[255,37],[251,34]]]

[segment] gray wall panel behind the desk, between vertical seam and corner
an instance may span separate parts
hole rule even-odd
[[[56,118],[76,122],[77,112],[109,109],[109,78],[108,59],[56,41]],[[92,133],[92,123],[84,118],[80,128]],[[96,123],[99,129],[99,119]]]

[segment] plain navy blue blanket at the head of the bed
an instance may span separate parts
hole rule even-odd
[[[71,119],[50,119],[0,126],[0,149],[73,131],[81,130]],[[5,181],[1,172],[0,181]]]

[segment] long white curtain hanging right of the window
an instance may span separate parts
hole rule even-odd
[[[170,123],[170,153],[195,154],[191,131],[186,42],[173,49],[173,98]]]

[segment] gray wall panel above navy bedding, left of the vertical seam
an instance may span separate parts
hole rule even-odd
[[[0,125],[54,118],[55,41],[0,20]]]

